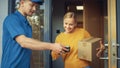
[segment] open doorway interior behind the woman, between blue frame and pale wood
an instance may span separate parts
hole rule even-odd
[[[77,6],[83,6],[83,9],[77,10]],[[100,37],[104,44],[108,44],[107,0],[52,0],[52,42],[60,32],[64,31],[63,16],[68,11],[73,11],[78,15],[80,28],[85,28],[92,36]],[[53,62],[53,68],[61,68],[60,63],[63,63],[61,58]],[[108,68],[108,46],[106,46],[99,64],[100,68]]]

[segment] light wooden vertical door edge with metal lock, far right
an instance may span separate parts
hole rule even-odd
[[[117,68],[116,0],[108,0],[108,67]]]

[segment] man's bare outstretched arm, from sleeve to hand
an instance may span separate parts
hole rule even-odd
[[[28,38],[24,35],[17,36],[15,40],[21,45],[21,47],[32,50],[52,50],[54,52],[60,53],[60,51],[64,49],[58,43],[41,42],[32,38]]]

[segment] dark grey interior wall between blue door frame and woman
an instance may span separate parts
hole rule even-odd
[[[64,2],[64,0],[52,1],[52,42],[55,42],[56,36],[64,31],[62,24],[65,13]],[[52,68],[64,68],[61,57],[52,62]]]

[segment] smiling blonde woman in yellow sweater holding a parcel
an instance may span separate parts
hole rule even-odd
[[[70,52],[62,54],[52,52],[53,60],[57,59],[59,55],[62,55],[65,65],[64,68],[90,68],[90,62],[78,58],[78,42],[91,37],[90,34],[82,28],[77,28],[76,16],[73,12],[65,14],[63,27],[65,31],[56,37],[55,42],[69,45]],[[101,46],[101,50],[98,52],[99,54],[101,53],[102,48],[104,48],[103,45]],[[97,56],[99,56],[99,54],[97,54]]]

